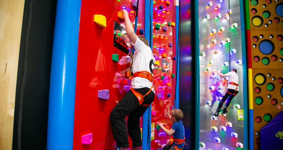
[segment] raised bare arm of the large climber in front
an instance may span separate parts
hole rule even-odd
[[[122,12],[123,12],[124,20],[125,20],[127,35],[129,37],[129,39],[131,40],[132,44],[135,44],[136,41],[137,41],[137,35],[135,34],[135,30],[134,30],[132,23],[130,21],[128,12],[125,9],[123,9]]]

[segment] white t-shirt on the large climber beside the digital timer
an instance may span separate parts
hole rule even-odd
[[[133,73],[138,71],[147,71],[152,74],[154,66],[155,66],[155,58],[153,57],[151,48],[144,44],[137,37],[137,41],[133,44],[135,47],[135,53],[133,58]],[[132,79],[131,82],[132,88],[139,89],[139,88],[151,88],[152,82],[147,80],[146,78],[135,77]],[[153,92],[153,88],[151,89]]]

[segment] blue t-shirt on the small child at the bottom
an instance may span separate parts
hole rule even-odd
[[[179,138],[179,139],[184,139],[185,138],[185,129],[182,121],[177,121],[172,125],[172,129],[175,130],[173,133],[173,138]],[[183,144],[178,144],[178,148],[183,148]],[[176,146],[175,142],[173,142],[173,146]]]

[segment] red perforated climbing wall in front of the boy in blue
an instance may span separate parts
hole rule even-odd
[[[153,1],[153,55],[155,56],[155,99],[151,109],[151,123],[166,123],[171,128],[172,122],[166,110],[174,108],[176,84],[176,5],[174,0]],[[159,64],[156,63],[159,61]],[[157,150],[167,144],[171,136],[162,129],[156,129],[151,148]]]

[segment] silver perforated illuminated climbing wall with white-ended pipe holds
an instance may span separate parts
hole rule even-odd
[[[242,31],[240,0],[199,0],[199,142],[200,149],[235,150],[247,149],[245,142],[244,119],[244,65],[245,51],[242,49]],[[228,80],[214,75],[213,71],[225,74],[231,68],[237,68],[239,93],[228,107],[227,116],[220,112],[213,116],[219,100],[223,97]],[[238,104],[238,105],[237,105]],[[225,103],[221,109],[223,109]],[[240,106],[240,107],[235,107]],[[198,132],[198,131],[196,131]],[[244,146],[244,148],[240,148]],[[197,148],[196,148],[197,149]]]

